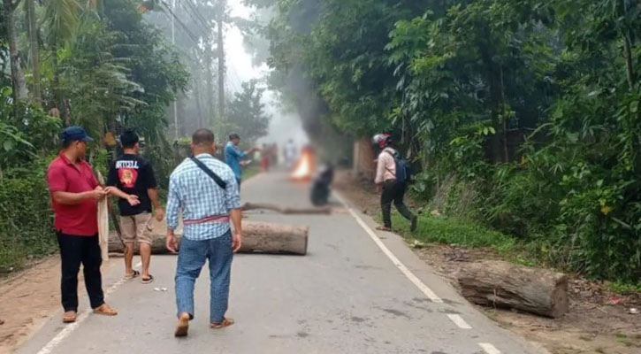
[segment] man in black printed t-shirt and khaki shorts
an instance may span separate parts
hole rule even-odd
[[[132,130],[126,130],[120,135],[123,155],[111,165],[107,178],[108,192],[118,196],[120,209],[120,229],[125,242],[125,278],[134,279],[141,275],[132,267],[134,258],[134,242],[140,245],[142,260],[143,284],[154,281],[149,274],[151,260],[151,204],[156,210],[156,220],[164,219],[164,211],[158,201],[158,189],[154,170],[145,159],[138,156],[140,144],[138,135]]]

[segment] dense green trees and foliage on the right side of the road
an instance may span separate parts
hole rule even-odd
[[[273,3],[272,84],[350,135],[400,135],[419,199],[569,271],[641,277],[641,4]]]

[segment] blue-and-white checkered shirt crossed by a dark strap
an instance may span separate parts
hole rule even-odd
[[[183,220],[197,220],[211,216],[228,215],[232,209],[240,208],[238,182],[232,169],[210,154],[196,156],[211,171],[227,183],[225,190],[212,180],[189,158],[186,158],[169,179],[167,201],[167,227],[175,230],[179,226],[179,212]],[[210,221],[184,225],[183,237],[192,241],[217,238],[229,230],[229,222]]]

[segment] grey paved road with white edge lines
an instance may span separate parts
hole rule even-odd
[[[243,186],[245,201],[295,206],[307,199],[307,186],[284,174],[261,174]],[[351,208],[332,216],[253,213],[249,219],[308,225],[309,254],[237,256],[228,312],[233,327],[208,327],[203,270],[189,336],[174,338],[176,258],[154,257],[152,285],[120,281],[118,266],[104,274],[117,317],[87,314],[65,326],[56,315],[17,353],[545,353],[495,326],[398,236],[374,234],[373,221]]]

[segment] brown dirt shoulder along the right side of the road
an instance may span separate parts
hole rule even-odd
[[[371,181],[351,173],[339,173],[334,188],[362,212],[372,216],[380,212],[378,196]],[[496,252],[485,249],[469,250],[437,243],[412,248],[425,263],[454,285],[450,274],[456,273],[466,262],[500,259]],[[501,327],[541,343],[553,354],[641,352],[641,314],[628,313],[630,308],[641,308],[641,294],[619,296],[608,291],[602,283],[572,277],[569,298],[570,311],[561,319],[480,306],[478,309]]]

